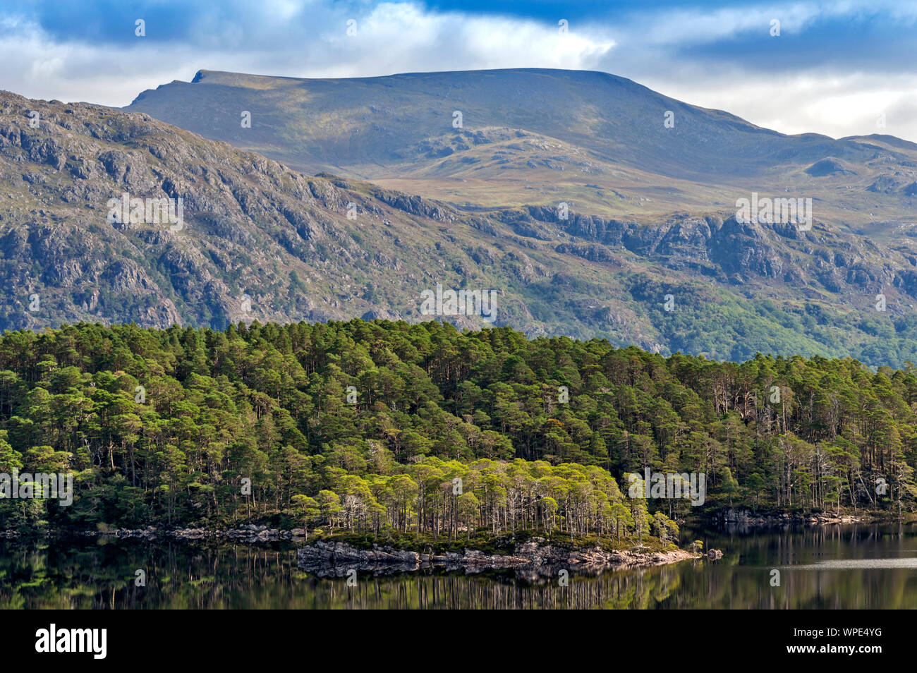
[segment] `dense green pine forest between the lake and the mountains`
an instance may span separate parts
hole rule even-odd
[[[0,502],[0,526],[674,540],[691,502],[619,486],[645,468],[704,474],[706,507],[900,513],[915,402],[910,363],[667,359],[504,327],[7,332],[0,471],[72,471],[75,492],[70,507]]]

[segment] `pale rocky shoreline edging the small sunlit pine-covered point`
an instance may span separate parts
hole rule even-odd
[[[477,549],[442,555],[418,554],[388,546],[357,549],[340,542],[316,542],[297,551],[299,567],[319,577],[343,577],[349,570],[376,574],[411,572],[421,568],[464,570],[468,574],[485,570],[514,569],[520,579],[553,576],[559,569],[598,574],[610,568],[657,566],[697,557],[678,549],[667,552],[605,551],[601,547],[565,549],[545,545],[543,538],[517,545],[512,554],[484,554]]]

